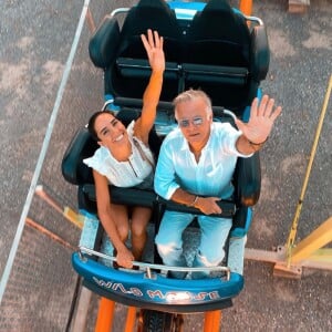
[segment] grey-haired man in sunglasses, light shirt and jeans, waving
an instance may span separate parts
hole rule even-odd
[[[237,131],[230,124],[214,123],[210,98],[199,90],[179,94],[175,101],[178,128],[164,139],[155,174],[155,190],[166,199],[195,207],[201,230],[194,267],[218,266],[231,228],[231,219],[212,217],[220,214],[217,201],[229,198],[231,178],[238,157],[249,157],[267,141],[281,107],[273,110],[274,101],[264,95],[251,105],[248,123],[236,120]],[[181,235],[195,215],[166,210],[155,242],[167,266],[185,267]],[[185,278],[185,272],[169,272]],[[207,277],[193,272],[191,278]]]

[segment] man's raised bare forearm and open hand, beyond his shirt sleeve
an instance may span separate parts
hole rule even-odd
[[[281,113],[281,106],[276,107],[274,100],[264,95],[259,104],[255,98],[251,104],[250,118],[248,123],[236,120],[236,125],[242,132],[236,147],[239,153],[248,155],[259,151],[268,139],[274,121]]]

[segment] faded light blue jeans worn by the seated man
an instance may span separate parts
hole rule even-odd
[[[164,264],[175,267],[187,266],[183,255],[183,232],[195,217],[195,215],[190,214],[165,211],[159,231],[155,238]],[[225,257],[224,246],[232,220],[206,215],[197,216],[197,220],[201,237],[193,267],[218,266]],[[206,278],[208,274],[208,272],[193,272],[191,278]],[[176,273],[174,276],[176,277]],[[178,273],[178,278],[184,277],[184,272]]]

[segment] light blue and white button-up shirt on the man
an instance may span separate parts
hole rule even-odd
[[[170,199],[177,188],[199,196],[228,198],[238,157],[236,148],[241,132],[228,123],[212,123],[210,137],[197,163],[179,128],[164,139],[155,173],[155,191]]]

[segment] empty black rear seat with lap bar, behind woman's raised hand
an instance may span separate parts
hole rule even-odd
[[[116,17],[105,17],[90,41],[90,56],[105,72],[105,94],[142,98],[151,68],[141,34],[147,29],[164,38],[166,70],[160,100],[172,101],[177,87],[181,32],[164,0],[141,0],[127,12],[122,29]]]

